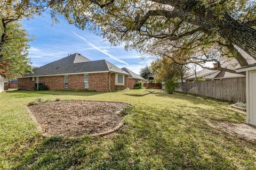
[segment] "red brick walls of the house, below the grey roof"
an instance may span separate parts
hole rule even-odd
[[[111,90],[126,89],[127,76],[125,76],[125,86],[115,86],[115,74],[111,74]],[[36,80],[36,78],[35,78]],[[49,90],[64,89],[64,75],[39,77],[39,83],[45,83]],[[18,78],[18,86],[23,86],[23,90],[34,90],[35,81],[30,78]],[[68,75],[67,90],[84,89],[84,74]],[[89,74],[89,90],[109,91],[109,73]]]

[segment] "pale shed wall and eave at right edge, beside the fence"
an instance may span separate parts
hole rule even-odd
[[[256,63],[236,72],[246,72],[246,123],[256,126]]]

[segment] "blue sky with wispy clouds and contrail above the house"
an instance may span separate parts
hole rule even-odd
[[[141,67],[152,59],[141,59],[135,51],[126,52],[124,46],[113,47],[108,40],[94,35],[89,30],[79,30],[65,19],[52,25],[50,14],[35,16],[34,19],[22,21],[23,27],[35,40],[29,43],[29,57],[35,66],[59,60],[68,54],[80,53],[90,60],[105,59],[119,68],[127,67],[139,73]]]

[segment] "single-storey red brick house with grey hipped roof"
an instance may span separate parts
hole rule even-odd
[[[128,88],[129,76],[106,60],[91,61],[75,53],[23,75],[18,78],[18,87],[34,90],[36,84],[44,83],[49,90],[124,90]]]

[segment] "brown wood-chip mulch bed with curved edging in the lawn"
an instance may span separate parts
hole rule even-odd
[[[50,135],[79,137],[108,131],[124,118],[116,112],[124,103],[68,100],[28,106],[44,132]]]

